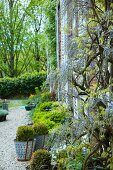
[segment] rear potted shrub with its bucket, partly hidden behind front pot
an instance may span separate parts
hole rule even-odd
[[[35,148],[34,150],[36,151],[37,149],[42,149],[44,148],[47,138],[48,138],[48,127],[45,124],[34,124],[33,129],[35,131],[35,138],[36,138],[36,143],[35,143]]]

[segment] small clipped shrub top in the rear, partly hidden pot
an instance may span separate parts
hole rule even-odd
[[[45,124],[34,124],[33,129],[35,131],[35,135],[47,135],[49,133],[48,127]]]

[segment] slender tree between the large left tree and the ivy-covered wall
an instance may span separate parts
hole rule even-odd
[[[31,25],[33,30],[33,46],[32,46],[32,53],[33,58],[35,60],[35,69],[39,72],[40,71],[40,63],[44,59],[45,56],[45,49],[41,50],[41,41],[44,41],[44,11],[43,11],[43,1],[35,2],[31,1],[29,5],[29,12],[28,15],[31,19]],[[42,57],[42,55],[44,55]],[[45,59],[44,59],[45,61]]]

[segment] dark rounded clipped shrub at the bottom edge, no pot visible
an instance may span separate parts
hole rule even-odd
[[[39,149],[34,152],[30,169],[31,170],[45,170],[51,167],[51,154],[44,149]]]

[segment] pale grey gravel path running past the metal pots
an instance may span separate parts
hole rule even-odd
[[[30,123],[24,108],[9,110],[7,121],[0,122],[0,170],[25,170],[28,162],[19,162],[16,158],[14,139],[17,127]]]

